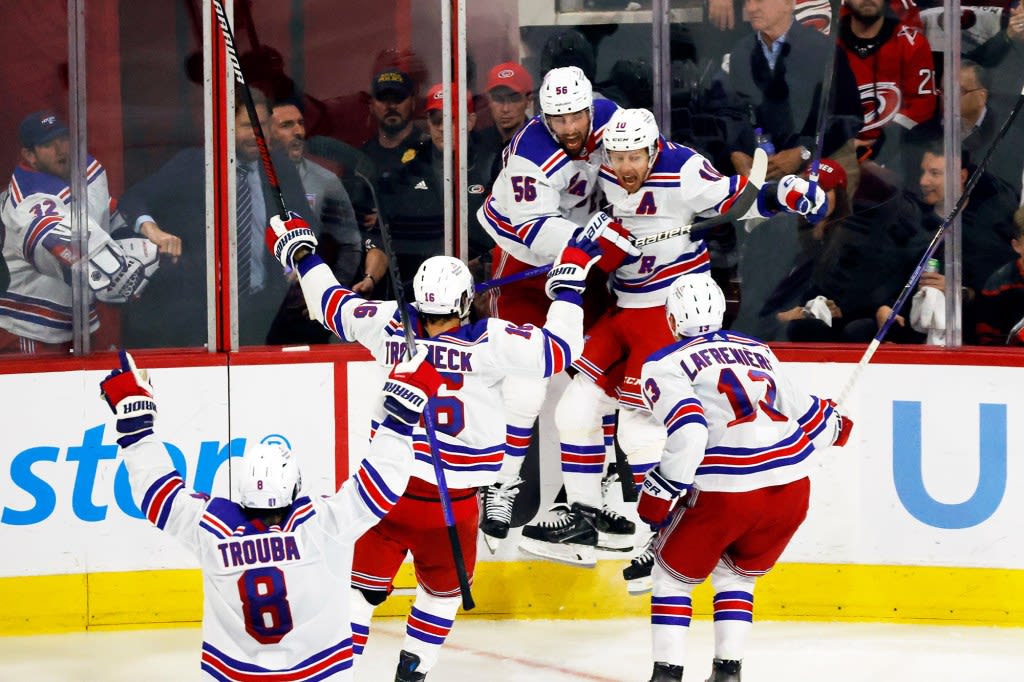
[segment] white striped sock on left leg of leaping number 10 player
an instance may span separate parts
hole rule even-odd
[[[590,507],[601,507],[604,474],[603,416],[615,402],[593,381],[578,374],[555,409],[555,425],[561,441],[562,481],[565,499]]]

